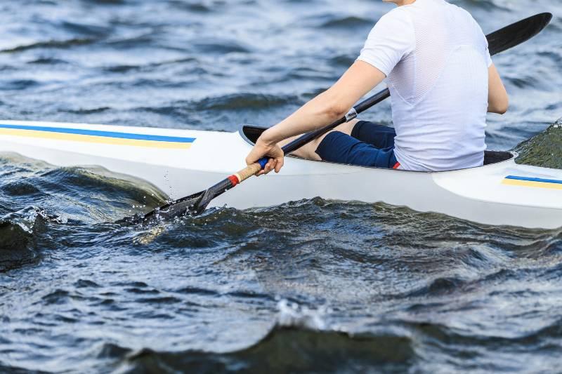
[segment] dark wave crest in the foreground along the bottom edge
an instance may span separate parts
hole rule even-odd
[[[371,333],[351,335],[276,327],[256,345],[238,352],[172,353],[142,349],[126,359],[124,372],[338,373],[348,372],[350,368],[353,371],[405,372],[414,359],[414,342],[407,336]]]

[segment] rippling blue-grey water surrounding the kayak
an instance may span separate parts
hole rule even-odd
[[[523,161],[560,168],[562,3],[455,4],[485,32],[555,14],[495,58],[511,109],[489,116],[488,145],[537,135]],[[337,79],[390,8],[5,0],[0,118],[269,126]],[[111,222],[166,196],[13,154],[0,175],[0,372],[559,370],[562,229],[322,199],[131,227]]]

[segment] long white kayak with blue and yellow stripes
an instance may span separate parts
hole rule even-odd
[[[236,132],[84,123],[0,121],[0,152],[55,166],[98,166],[138,178],[171,199],[207,189],[245,166],[265,128]],[[384,202],[486,225],[562,227],[562,170],[518,165],[515,152],[486,151],[485,165],[416,172],[286,158],[281,173],[251,178],[212,206],[275,206],[320,196]]]

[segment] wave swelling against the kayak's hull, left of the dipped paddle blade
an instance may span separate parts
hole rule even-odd
[[[167,199],[148,182],[104,168],[54,168],[8,154],[0,161],[5,169],[0,189],[4,199],[11,200],[12,210],[34,201],[68,222],[111,222],[160,206]],[[6,170],[8,166],[11,170]]]

